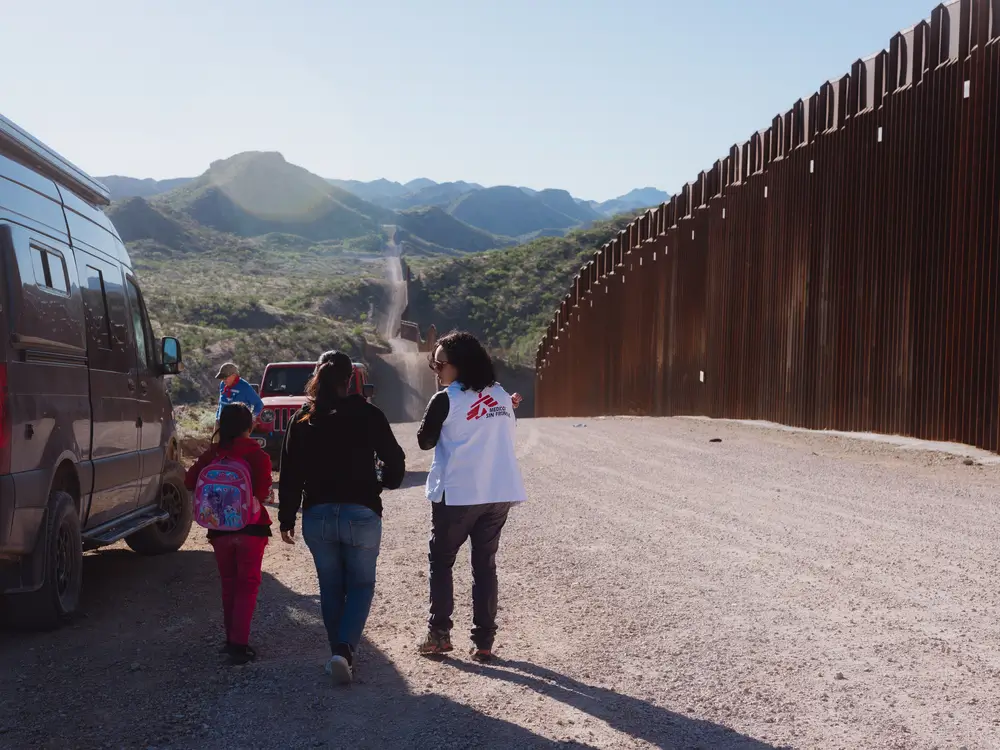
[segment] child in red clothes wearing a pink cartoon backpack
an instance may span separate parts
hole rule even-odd
[[[262,501],[271,492],[271,459],[250,439],[253,414],[243,404],[228,404],[219,414],[213,444],[188,469],[185,485],[194,498],[194,520],[208,529],[222,579],[222,612],[230,663],[257,657],[249,645],[250,621],[257,607],[264,548],[271,517]]]

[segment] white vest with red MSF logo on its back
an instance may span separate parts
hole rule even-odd
[[[427,499],[446,505],[520,503],[527,499],[514,453],[516,419],[499,383],[463,391],[452,383],[448,418],[427,475]]]

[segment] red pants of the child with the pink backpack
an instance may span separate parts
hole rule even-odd
[[[250,641],[250,621],[257,608],[260,569],[267,537],[232,534],[212,540],[222,579],[222,613],[226,640],[237,646]]]

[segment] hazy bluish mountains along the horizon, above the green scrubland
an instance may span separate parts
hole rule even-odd
[[[110,214],[123,239],[173,249],[191,249],[197,238],[203,244],[203,230],[247,239],[280,235],[305,244],[357,245],[359,238],[374,238],[383,226],[395,225],[411,252],[477,252],[561,236],[668,197],[642,188],[597,203],[555,189],[426,178],[407,183],[331,180],[274,152],[237,154],[213,162],[194,178],[99,179],[111,191],[115,203]]]

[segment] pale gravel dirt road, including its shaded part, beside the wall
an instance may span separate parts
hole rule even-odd
[[[261,658],[219,665],[195,533],[86,559],[86,615],[0,634],[2,748],[1000,747],[1000,468],[693,420],[524,421],[500,654],[414,655],[428,456],[396,428],[359,681],[327,683],[316,582],[272,544]],[[721,438],[722,442],[710,442]],[[470,618],[460,563],[457,645]]]

